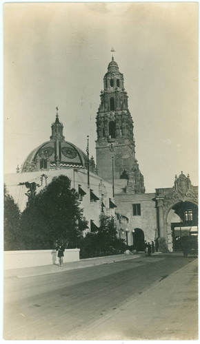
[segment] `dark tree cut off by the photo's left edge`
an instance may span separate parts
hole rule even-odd
[[[4,185],[4,250],[19,249],[17,241],[19,235],[20,211],[14,199],[9,195]]]

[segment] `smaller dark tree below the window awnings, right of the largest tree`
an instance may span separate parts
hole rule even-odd
[[[117,226],[114,217],[100,215],[99,229],[95,233],[88,233],[81,239],[81,258],[103,257],[119,255],[126,250],[123,239],[117,237]]]

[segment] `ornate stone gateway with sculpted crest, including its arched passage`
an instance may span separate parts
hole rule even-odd
[[[181,250],[181,237],[196,232],[198,226],[198,187],[181,172],[174,187],[156,189],[159,250]]]

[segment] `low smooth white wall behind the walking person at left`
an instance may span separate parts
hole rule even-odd
[[[79,248],[66,249],[63,263],[79,261]],[[4,269],[32,268],[34,266],[45,266],[58,264],[56,250],[27,250],[27,251],[5,251]]]

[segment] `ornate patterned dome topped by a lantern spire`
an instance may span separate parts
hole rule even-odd
[[[44,142],[28,155],[21,172],[84,168],[87,163],[86,154],[64,139],[63,125],[59,122],[57,114],[57,118],[52,124],[50,141]]]

